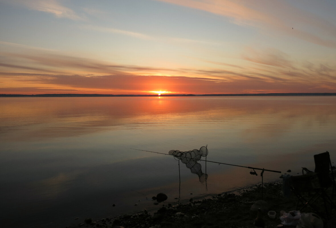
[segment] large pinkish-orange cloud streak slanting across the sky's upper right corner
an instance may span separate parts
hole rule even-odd
[[[157,0],[207,11],[233,23],[256,27],[268,34],[296,37],[310,43],[336,48],[336,25],[282,0]],[[285,16],[284,16],[285,15]],[[301,24],[303,26],[293,26]],[[295,27],[292,29],[292,27]],[[270,33],[270,31],[272,31]]]

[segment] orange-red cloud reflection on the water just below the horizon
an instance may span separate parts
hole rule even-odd
[[[243,120],[240,128],[244,129],[244,138],[251,132],[275,137],[313,122],[315,127],[325,125],[335,114],[333,99],[327,99],[324,104],[279,97],[253,100],[247,97],[5,99],[0,118],[2,132],[6,133],[3,136],[9,141],[113,131],[126,125],[141,128],[143,125],[187,124],[183,120],[190,118],[205,124]],[[296,126],[298,121],[299,126]]]

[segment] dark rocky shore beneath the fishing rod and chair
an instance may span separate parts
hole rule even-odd
[[[266,202],[262,210],[265,227],[273,228],[281,224],[280,211],[296,210],[297,198],[294,195],[289,198],[284,197],[281,188],[282,181],[279,181],[264,183],[263,188],[258,184],[210,198],[190,198],[188,201],[176,204],[161,202],[157,205],[159,209],[154,212],[143,210],[118,217],[87,218],[84,221],[78,221],[79,224],[71,228],[254,228],[257,209],[252,205],[258,200]],[[153,203],[157,202],[153,200]],[[269,210],[276,212],[275,218],[268,217]],[[308,206],[301,211],[301,213],[309,212],[313,210]],[[321,209],[320,213],[324,211]],[[331,218],[336,218],[335,210]],[[336,227],[335,219],[324,219],[324,222],[324,227]]]

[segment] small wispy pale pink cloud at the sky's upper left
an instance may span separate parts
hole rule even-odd
[[[59,18],[69,18],[72,20],[82,20],[83,18],[77,15],[72,9],[62,6],[56,0],[11,0],[11,3],[17,3],[24,5],[25,7],[42,11],[46,13],[51,13]]]

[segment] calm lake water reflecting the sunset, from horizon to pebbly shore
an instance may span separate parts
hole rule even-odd
[[[259,170],[200,161],[201,183],[173,156],[131,148],[207,145],[207,161],[297,174],[314,154],[335,161],[335,133],[333,96],[0,98],[0,221],[65,227],[159,208],[159,192],[167,204],[261,183]]]

